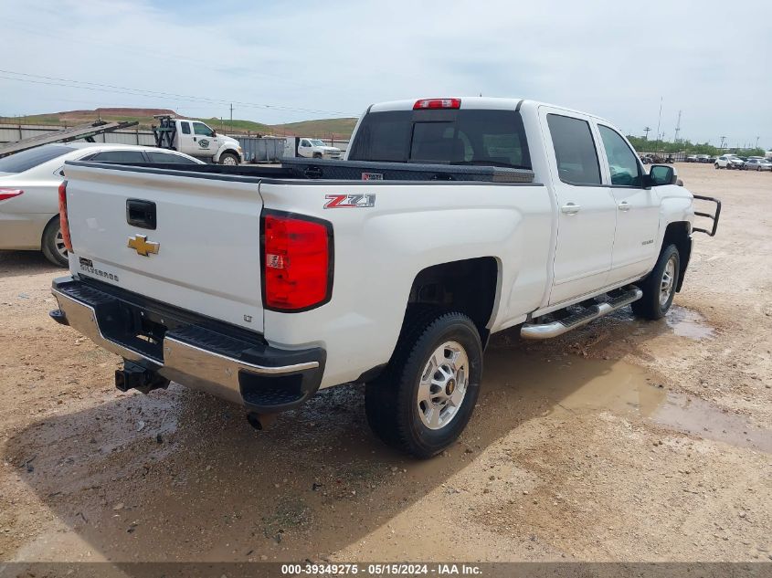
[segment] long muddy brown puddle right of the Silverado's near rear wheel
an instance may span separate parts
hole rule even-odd
[[[638,416],[693,436],[772,453],[772,431],[749,425],[743,415],[669,391],[661,379],[624,361],[562,355],[534,359],[525,352],[493,348],[486,354],[483,387],[516,388],[523,403],[547,401],[544,414],[562,410]]]

